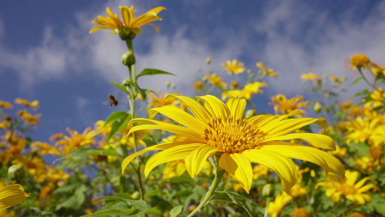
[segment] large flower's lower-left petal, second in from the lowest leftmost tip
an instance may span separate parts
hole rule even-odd
[[[203,144],[192,143],[182,146],[174,146],[153,155],[150,159],[148,159],[146,166],[144,167],[144,175],[147,178],[151,170],[162,163],[182,160],[186,158],[187,155],[189,155],[192,151],[198,149],[202,145]]]

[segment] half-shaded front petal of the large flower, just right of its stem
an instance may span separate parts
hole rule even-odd
[[[219,167],[238,180],[243,189],[249,193],[251,182],[253,181],[253,169],[251,168],[251,162],[246,156],[238,153],[223,153],[221,158],[219,158]]]

